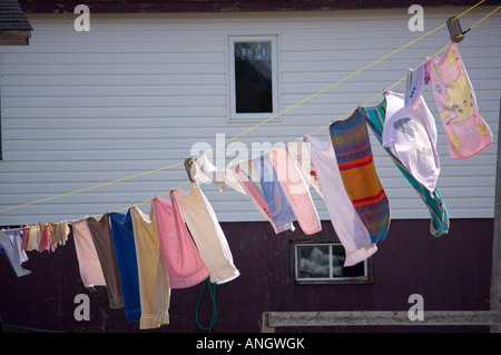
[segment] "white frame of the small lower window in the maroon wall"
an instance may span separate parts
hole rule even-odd
[[[299,277],[298,270],[298,247],[326,247],[328,246],[328,277]],[[328,284],[328,283],[369,283],[369,262],[367,259],[363,260],[364,263],[364,275],[356,277],[334,277],[333,273],[333,246],[342,246],[341,243],[294,243],[294,280],[299,284]]]

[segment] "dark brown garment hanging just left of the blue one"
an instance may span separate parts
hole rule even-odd
[[[114,241],[111,239],[111,228],[109,226],[108,214],[102,215],[97,220],[94,217],[87,218],[87,226],[92,237],[94,246],[102,267],[106,280],[106,290],[110,308],[124,307],[121,296],[120,276],[118,275],[117,258],[115,256]]]

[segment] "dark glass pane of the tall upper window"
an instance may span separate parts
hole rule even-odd
[[[272,42],[235,42],[237,114],[273,112]]]

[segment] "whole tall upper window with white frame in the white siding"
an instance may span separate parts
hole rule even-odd
[[[265,119],[278,112],[276,36],[229,36],[230,120]]]

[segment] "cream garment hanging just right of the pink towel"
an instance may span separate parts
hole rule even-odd
[[[191,183],[190,193],[174,190],[170,198],[173,204],[179,206],[181,217],[209,272],[210,282],[225,284],[238,277],[240,273],[234,265],[226,236],[198,183]]]

